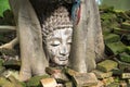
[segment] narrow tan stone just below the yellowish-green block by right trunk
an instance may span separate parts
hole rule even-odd
[[[99,70],[94,70],[93,73],[96,75],[98,78],[112,77],[112,75],[113,75],[113,72],[104,73]]]

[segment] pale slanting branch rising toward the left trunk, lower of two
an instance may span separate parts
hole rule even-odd
[[[13,40],[11,40],[10,42],[0,46],[0,49],[2,49],[2,48],[13,49],[16,44],[18,44],[17,37],[14,38]]]

